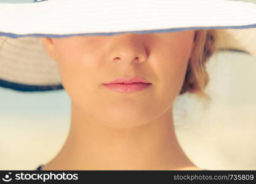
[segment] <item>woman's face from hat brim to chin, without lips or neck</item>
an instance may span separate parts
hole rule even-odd
[[[42,39],[58,63],[73,108],[107,126],[133,127],[156,120],[180,92],[195,31]],[[148,88],[120,93],[103,86],[142,77]]]

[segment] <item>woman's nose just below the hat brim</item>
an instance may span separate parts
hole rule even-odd
[[[146,61],[147,52],[140,35],[126,33],[111,36],[108,59],[115,63],[130,64]]]

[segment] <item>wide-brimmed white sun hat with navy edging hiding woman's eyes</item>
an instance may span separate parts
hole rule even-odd
[[[0,86],[62,89],[39,37],[218,29],[218,50],[256,56],[256,0],[35,0],[0,3]]]

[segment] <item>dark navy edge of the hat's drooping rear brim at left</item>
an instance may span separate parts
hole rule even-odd
[[[32,91],[50,91],[50,90],[63,90],[62,85],[23,85],[20,83],[7,82],[6,80],[0,79],[0,86],[4,88],[9,88],[12,90],[32,92]]]

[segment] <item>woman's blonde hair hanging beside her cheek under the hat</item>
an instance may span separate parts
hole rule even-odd
[[[183,93],[194,93],[199,98],[210,100],[207,93],[204,92],[207,84],[209,83],[209,75],[206,71],[206,61],[217,50],[216,44],[216,30],[196,30],[194,36],[194,47],[191,53],[191,58],[188,61],[186,69],[185,80],[183,82]]]

